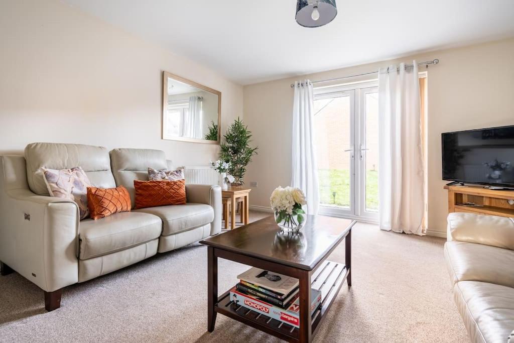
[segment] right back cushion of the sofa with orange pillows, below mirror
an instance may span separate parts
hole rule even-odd
[[[132,206],[136,204],[134,180],[148,181],[148,168],[167,169],[166,155],[161,150],[114,149],[111,150],[111,167],[117,186],[130,194]]]

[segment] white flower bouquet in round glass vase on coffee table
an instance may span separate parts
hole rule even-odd
[[[305,221],[302,205],[307,202],[300,189],[278,187],[271,193],[269,200],[271,208],[275,212],[275,220],[283,228],[293,229]]]

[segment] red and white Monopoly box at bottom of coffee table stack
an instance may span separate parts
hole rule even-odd
[[[310,315],[313,315],[314,311],[321,303],[321,292],[312,288],[310,298],[312,300],[310,305]],[[273,306],[267,302],[238,292],[236,287],[233,287],[230,290],[230,299],[247,309],[262,313],[263,315],[273,319],[290,324],[293,327],[300,327],[300,298],[297,298],[296,301],[293,302],[287,310],[284,310],[278,306]]]

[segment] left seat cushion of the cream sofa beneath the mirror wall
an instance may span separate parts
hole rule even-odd
[[[80,223],[81,260],[111,254],[160,236],[162,222],[148,213],[121,212],[100,220],[86,219]]]

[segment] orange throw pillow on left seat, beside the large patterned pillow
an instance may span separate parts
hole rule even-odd
[[[94,220],[116,212],[129,212],[132,207],[130,195],[125,187],[87,187],[87,208]]]

